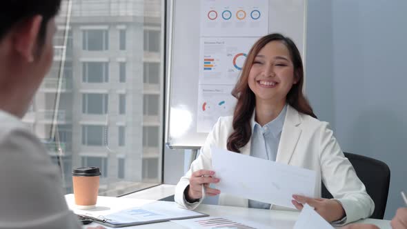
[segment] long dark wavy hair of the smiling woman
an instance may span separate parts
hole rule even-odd
[[[248,143],[252,135],[250,119],[255,110],[256,97],[248,86],[248,76],[255,57],[260,52],[261,48],[271,41],[281,41],[281,43],[284,43],[290,52],[290,57],[294,66],[294,77],[297,79],[297,83],[293,84],[288,92],[286,97],[287,103],[298,112],[317,118],[312,111],[310,103],[308,103],[302,93],[302,86],[304,84],[304,67],[302,66],[301,55],[299,54],[297,46],[295,46],[295,43],[290,38],[284,37],[282,34],[268,34],[261,37],[250,49],[243,69],[241,70],[241,76],[237,81],[235,88],[232,90],[232,95],[236,97],[237,103],[235,112],[233,112],[233,132],[228,137],[227,143],[227,148],[230,151],[240,152],[239,149]]]

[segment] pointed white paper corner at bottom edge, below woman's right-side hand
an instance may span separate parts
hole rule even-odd
[[[304,205],[293,229],[334,229],[308,204]]]

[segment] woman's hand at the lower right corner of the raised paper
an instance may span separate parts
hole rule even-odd
[[[328,222],[337,221],[345,217],[345,210],[341,203],[334,199],[309,198],[300,195],[292,195],[292,204],[298,210],[302,210],[305,203],[315,208],[315,211]]]

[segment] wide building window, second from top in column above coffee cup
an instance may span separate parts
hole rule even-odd
[[[84,83],[106,83],[109,81],[109,63],[83,62],[82,76]]]

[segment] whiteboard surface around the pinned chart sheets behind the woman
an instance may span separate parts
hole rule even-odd
[[[201,148],[208,135],[197,132],[200,1],[170,1],[165,130],[169,148]],[[248,0],[236,0],[239,1]],[[290,37],[301,52],[305,66],[307,1],[268,1],[268,32]]]

